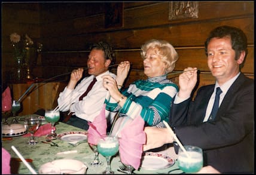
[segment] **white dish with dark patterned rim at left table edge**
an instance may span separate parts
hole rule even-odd
[[[15,137],[26,134],[26,128],[21,124],[2,125],[2,137]]]

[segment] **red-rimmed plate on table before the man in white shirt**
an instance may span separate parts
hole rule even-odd
[[[57,137],[69,143],[76,143],[87,139],[87,131],[70,131],[59,134]]]

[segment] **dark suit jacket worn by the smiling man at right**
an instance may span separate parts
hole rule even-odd
[[[194,101],[172,104],[170,126],[182,145],[203,149],[204,165],[221,173],[254,172],[254,80],[240,73],[215,121],[203,122],[213,91],[214,85],[207,85],[199,88]]]

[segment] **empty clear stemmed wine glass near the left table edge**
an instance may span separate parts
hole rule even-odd
[[[26,130],[31,133],[31,138],[28,141],[29,145],[35,145],[37,141],[35,140],[33,134],[38,130],[40,125],[40,119],[38,116],[30,116],[29,118],[24,119],[24,125]]]

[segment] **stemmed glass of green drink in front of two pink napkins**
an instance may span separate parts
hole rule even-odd
[[[106,134],[103,136],[97,143],[97,151],[105,156],[106,158],[106,170],[102,174],[114,174],[114,171],[111,170],[110,159],[111,156],[115,155],[119,149],[119,142],[117,137]]]

